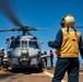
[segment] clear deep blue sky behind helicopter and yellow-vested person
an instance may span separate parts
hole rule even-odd
[[[1,1],[1,0],[0,0]],[[7,0],[5,0],[7,1]],[[8,0],[9,1],[9,0]],[[23,25],[55,30],[31,32],[42,45],[43,50],[51,49],[48,40],[55,40],[58,30],[60,30],[61,17],[71,14],[75,19],[75,26],[83,26],[83,0],[10,0],[10,8]],[[3,4],[4,5],[4,4]],[[16,27],[0,10],[0,30]],[[57,30],[56,30],[57,28]],[[83,35],[83,28],[79,28]],[[5,38],[17,35],[17,32],[0,33],[0,47],[4,47]],[[82,59],[81,59],[81,62]]]

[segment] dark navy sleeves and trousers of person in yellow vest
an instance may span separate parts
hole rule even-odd
[[[81,48],[82,36],[80,37],[80,54],[83,55]],[[56,36],[55,42],[48,42],[48,46],[51,48],[59,48],[62,44],[62,31],[60,30]],[[82,56],[83,58],[83,56]],[[56,63],[56,69],[51,82],[61,82],[66,71],[68,71],[68,82],[79,82],[79,58],[59,58]]]

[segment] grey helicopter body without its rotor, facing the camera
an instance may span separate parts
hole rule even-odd
[[[8,58],[12,68],[28,67],[42,62],[39,42],[32,35],[16,36],[8,42]]]

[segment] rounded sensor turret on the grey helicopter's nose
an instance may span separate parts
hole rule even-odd
[[[22,66],[26,66],[29,62],[29,56],[27,50],[22,50],[21,51],[21,57],[20,57],[20,63]]]

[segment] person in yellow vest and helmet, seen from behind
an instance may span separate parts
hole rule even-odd
[[[68,71],[68,82],[79,82],[79,50],[83,58],[81,43],[81,33],[74,28],[74,17],[70,14],[64,15],[56,40],[48,42],[49,47],[56,48],[58,57],[51,82],[61,82],[66,71]]]

